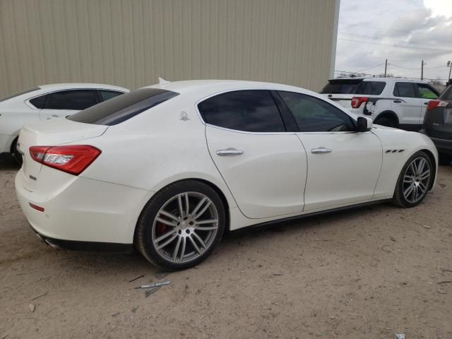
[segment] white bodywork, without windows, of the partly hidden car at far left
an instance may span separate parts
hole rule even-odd
[[[66,117],[78,111],[66,109],[37,109],[30,104],[30,100],[41,95],[59,92],[61,90],[115,90],[129,92],[128,89],[114,85],[100,83],[56,83],[40,85],[23,95],[18,95],[0,102],[0,153],[10,153],[11,145],[19,135],[25,124],[34,124],[49,117]]]

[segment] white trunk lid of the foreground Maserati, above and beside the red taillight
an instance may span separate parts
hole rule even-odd
[[[55,146],[73,141],[85,141],[101,136],[108,126],[83,124],[65,118],[40,121],[32,126],[23,126],[20,131],[18,149],[23,157],[20,171],[25,189],[34,191],[40,177],[42,164],[32,159],[31,146]]]

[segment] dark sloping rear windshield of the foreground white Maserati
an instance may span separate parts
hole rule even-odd
[[[85,124],[112,126],[135,117],[177,95],[179,93],[170,90],[141,88],[72,114],[67,119]]]

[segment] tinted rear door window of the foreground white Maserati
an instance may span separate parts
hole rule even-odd
[[[267,90],[238,90],[198,105],[207,124],[248,132],[285,132],[283,119]]]

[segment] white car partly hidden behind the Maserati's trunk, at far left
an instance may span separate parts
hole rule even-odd
[[[16,147],[24,124],[66,117],[126,92],[126,88],[98,83],[55,83],[1,98],[0,153],[11,153],[21,162]]]

